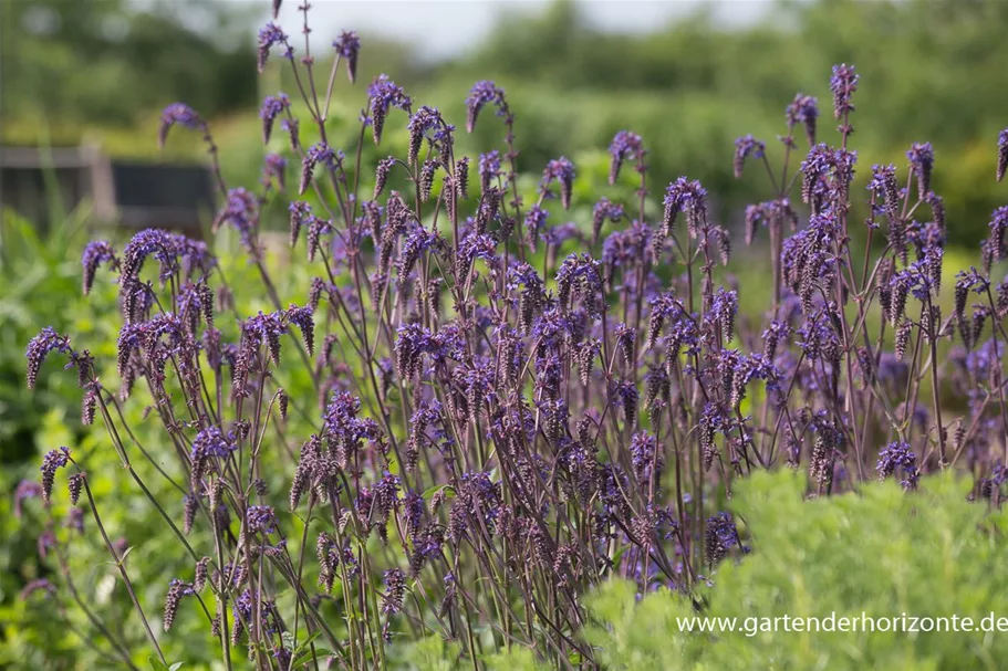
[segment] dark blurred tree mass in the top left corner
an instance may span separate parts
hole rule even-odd
[[[114,125],[178,98],[207,115],[253,105],[254,45],[242,7],[0,3],[0,114]]]

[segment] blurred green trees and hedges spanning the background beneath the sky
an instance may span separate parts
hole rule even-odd
[[[450,7],[435,2],[432,11]],[[798,91],[819,97],[820,135],[828,138],[830,66],[848,62],[862,75],[854,122],[862,180],[872,162],[902,165],[911,143],[928,140],[953,242],[979,240],[999,202],[990,176],[991,147],[1008,118],[1002,0],[779,0],[755,21],[728,23],[724,12],[697,3],[635,34],[593,27],[570,0],[538,13],[516,7],[475,48],[448,60],[364,32],[361,82],[339,86],[342,123],[355,119],[363,84],[380,72],[458,122],[471,84],[493,78],[518,115],[522,169],[604,150],[616,130],[631,128],[652,149],[657,184],[682,174],[700,179],[730,219],[762,199],[767,186],[732,179],[732,140],[752,133],[772,143]],[[226,175],[256,179],[262,148],[248,138],[258,102],[295,88],[279,63],[256,75],[262,3],[38,0],[0,11],[3,143],[32,145],[48,134],[54,144],[87,138],[116,156],[153,156],[154,119],[165,104],[184,99],[211,120]],[[316,29],[313,39],[319,45],[334,36]],[[320,78],[328,75],[322,51]],[[482,126],[472,151],[497,140],[498,130]],[[200,158],[198,138],[173,141],[169,156]]]

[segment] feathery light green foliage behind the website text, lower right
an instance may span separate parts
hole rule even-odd
[[[817,501],[802,500],[803,483],[759,473],[739,486],[731,507],[749,524],[754,552],[710,576],[699,610],[668,591],[637,600],[628,583],[595,594],[585,637],[601,661],[613,670],[1000,668],[1008,640],[996,631],[789,632],[782,622],[756,631],[784,615],[958,615],[979,628],[991,612],[1008,614],[1008,576],[994,569],[1008,555],[1008,520],[967,502],[967,482],[949,473],[914,494],[885,482]],[[736,631],[682,631],[680,619],[697,615],[736,618]]]

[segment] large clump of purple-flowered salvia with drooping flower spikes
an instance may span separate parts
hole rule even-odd
[[[531,198],[519,189],[516,116],[492,82],[465,101],[464,132],[500,130],[479,156],[460,156],[460,130],[385,75],[366,87],[361,143],[331,146],[333,81],[355,78],[360,40],[333,43],[318,86],[300,9],[303,44],[274,23],[259,33],[260,70],[285,60],[299,95],[262,104],[263,139],[280,134],[288,148],[267,157],[258,188],[225,184],[211,130],[186,105],[165,109],[159,130],[162,143],[178,129],[205,139],[222,201],[215,230],[237,231],[272,310],[237,314],[206,243],[146,230],[83,256],[84,293],[116,275],[114,367],[51,328],[28,346],[30,387],[46,357],[76,369],[84,422],[104,427],[186,557],[158,627],[206,618],[228,669],[385,667],[398,641],[429,636],[472,668],[511,647],[592,668],[579,633],[586,590],[609,577],[642,594],[706,586],[719,562],[749,552],[720,503],[754,471],[800,469],[807,495],[825,497],[880,478],[913,495],[922,474],[956,466],[975,475],[976,500],[1000,501],[1008,282],[994,269],[1008,255],[1008,208],[994,212],[978,268],[943,277],[934,151],[914,144],[901,166],[858,166],[853,66],[830,80],[833,144],[807,95],[787,105],[772,150],[752,136],[736,144],[736,175],[765,171],[770,185],[745,212],[745,242],[766,239],[772,268],[754,323],[719,281],[738,234],[716,223],[698,181],[657,191],[654,148],[630,130],[609,147],[609,181],[635,190],[611,189],[576,224],[550,221],[582,197],[571,160],[542,166]],[[404,126],[405,154],[365,165],[364,145]],[[1008,130],[998,139],[1001,178]],[[285,180],[289,166],[298,176]],[[855,170],[870,174],[866,189]],[[293,192],[290,242],[315,275],[302,304],[279,295],[264,259],[260,216],[278,189]],[[943,281],[955,296],[944,312]],[[281,358],[303,366],[318,402],[278,385]],[[141,390],[156,445],[124,411]],[[311,429],[288,436],[295,409]],[[267,459],[290,465],[285,491],[271,487]],[[177,495],[155,496],[138,460]],[[167,663],[134,589],[144,577],[95,505],[98,465],[53,450],[18,505],[40,497],[52,514],[50,497],[67,496],[77,524],[90,513]],[[65,570],[55,522],[46,528],[40,549],[62,581],[28,593],[75,601],[105,654],[132,667]]]

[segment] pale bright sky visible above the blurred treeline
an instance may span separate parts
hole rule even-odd
[[[502,13],[543,11],[550,0],[313,0],[313,30],[332,36],[356,30],[363,39],[382,35],[413,43],[432,60],[457,55],[477,44]],[[279,23],[288,34],[301,30],[301,0],[283,0]],[[746,23],[770,0],[578,0],[588,20],[613,32],[657,30],[705,4],[718,20]],[[266,2],[261,2],[267,6]],[[268,7],[262,22],[269,19]]]

